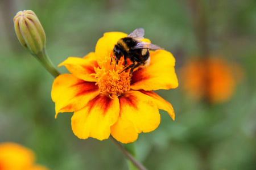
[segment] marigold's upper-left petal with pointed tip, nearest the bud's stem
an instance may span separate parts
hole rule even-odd
[[[75,75],[77,78],[88,82],[96,82],[93,74],[95,73],[94,67],[98,67],[95,53],[89,53],[84,58],[69,57],[64,62],[60,63],[59,66],[67,67],[68,71]]]

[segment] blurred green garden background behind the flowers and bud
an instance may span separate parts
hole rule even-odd
[[[0,142],[31,148],[49,169],[128,169],[111,140],[81,140],[72,113],[51,100],[53,77],[19,44],[13,17],[33,10],[58,65],[93,52],[104,32],[145,29],[145,37],[174,54],[176,72],[197,54],[217,54],[243,68],[232,99],[208,105],[180,87],[158,94],[176,120],[160,111],[159,128],[140,134],[138,159],[148,169],[256,169],[256,1],[0,1]],[[67,73],[60,67],[61,73]]]

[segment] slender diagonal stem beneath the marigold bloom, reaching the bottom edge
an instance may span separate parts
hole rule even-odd
[[[130,160],[130,163],[129,163],[129,168],[130,169],[133,169],[133,170],[147,170],[147,168],[145,168],[140,162],[138,162],[138,160],[136,160],[134,158],[133,155],[130,154],[130,152],[128,152],[127,150],[130,150],[130,151],[133,151],[134,149],[131,149],[131,145],[129,146],[130,148],[127,148],[127,150],[118,142],[116,141],[111,135],[110,135],[110,139],[112,139],[112,141],[114,142],[114,144],[119,148],[119,150],[121,150],[123,152],[123,154],[126,156],[127,159]],[[133,153],[135,153],[133,151]],[[132,164],[131,164],[132,163]],[[131,167],[132,165],[132,167]]]

